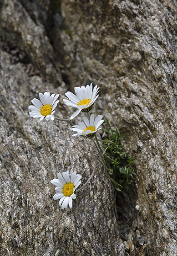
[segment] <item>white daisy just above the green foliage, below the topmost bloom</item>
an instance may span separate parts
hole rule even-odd
[[[74,132],[77,132],[73,134],[72,136],[81,136],[81,135],[87,135],[89,137],[94,136],[94,133],[97,132],[97,130],[101,129],[99,128],[100,125],[104,122],[101,115],[98,115],[95,118],[94,121],[94,114],[91,114],[90,120],[87,117],[84,117],[84,122],[78,123],[77,125],[73,125],[73,128],[70,130],[73,130]]]

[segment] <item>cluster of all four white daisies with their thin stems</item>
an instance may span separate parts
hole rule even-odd
[[[40,118],[40,121],[46,119],[47,121],[53,121],[55,118],[56,120],[66,121],[70,123],[72,126],[71,130],[76,132],[73,136],[86,136],[90,137],[98,152],[100,151],[100,146],[95,142],[93,137],[96,138],[96,132],[101,129],[101,124],[104,122],[102,120],[101,115],[95,115],[92,113],[91,115],[89,112],[91,111],[93,104],[95,103],[96,99],[98,98],[99,87],[95,85],[86,85],[81,87],[74,88],[75,94],[68,91],[65,93],[66,97],[63,101],[66,103],[67,106],[76,108],[76,112],[74,112],[70,119],[62,119],[59,117],[55,117],[54,113],[56,112],[57,104],[59,103],[58,97],[59,94],[52,94],[50,95],[49,92],[45,92],[44,94],[39,93],[39,99],[34,98],[31,102],[33,105],[30,105],[30,117],[33,118]],[[87,117],[83,117],[83,122],[78,123],[77,125],[72,125],[71,120],[75,118],[80,112],[84,112],[87,114]],[[100,152],[99,152],[100,153]],[[101,155],[101,153],[100,153]],[[102,155],[101,155],[102,161]],[[94,168],[95,171],[96,167]],[[91,177],[93,176],[93,173]],[[90,177],[90,179],[91,179]],[[90,179],[88,181],[90,181]],[[88,181],[81,187],[85,187]],[[72,208],[72,200],[76,198],[77,187],[81,184],[81,175],[76,174],[74,171],[71,176],[69,171],[58,173],[58,179],[53,179],[51,181],[53,185],[56,186],[56,194],[54,195],[54,200],[60,200],[59,206],[62,209],[67,208],[68,206]],[[81,188],[79,190],[81,190]]]

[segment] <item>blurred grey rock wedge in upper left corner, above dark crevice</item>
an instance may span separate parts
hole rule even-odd
[[[46,36],[45,27],[40,23],[35,13],[40,10],[41,15],[47,12],[50,6],[48,0],[44,1],[41,11],[40,2],[36,6],[33,16],[27,12],[18,0],[3,0],[0,7],[0,36],[15,43],[22,51],[26,53],[30,62],[40,69],[46,80],[54,85],[63,85],[61,77],[60,62],[55,61],[55,54]],[[26,4],[32,5],[30,1]],[[33,5],[35,9],[35,5]],[[31,15],[31,16],[30,16]],[[43,17],[44,20],[45,17]],[[37,24],[36,24],[37,23]]]

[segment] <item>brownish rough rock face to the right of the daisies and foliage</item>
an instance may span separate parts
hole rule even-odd
[[[177,3],[62,0],[61,6],[77,47],[74,83],[101,86],[99,111],[118,125],[136,157],[137,229],[148,255],[177,255]]]

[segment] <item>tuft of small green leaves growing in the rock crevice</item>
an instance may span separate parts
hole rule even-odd
[[[133,168],[130,168],[135,159],[132,156],[131,158],[127,157],[127,153],[121,145],[121,139],[124,136],[119,133],[118,128],[112,129],[107,118],[105,118],[104,123],[107,128],[103,130],[107,133],[108,138],[102,140],[102,145],[105,149],[103,157],[115,190],[121,191],[131,183],[131,178],[136,175],[133,172]]]

